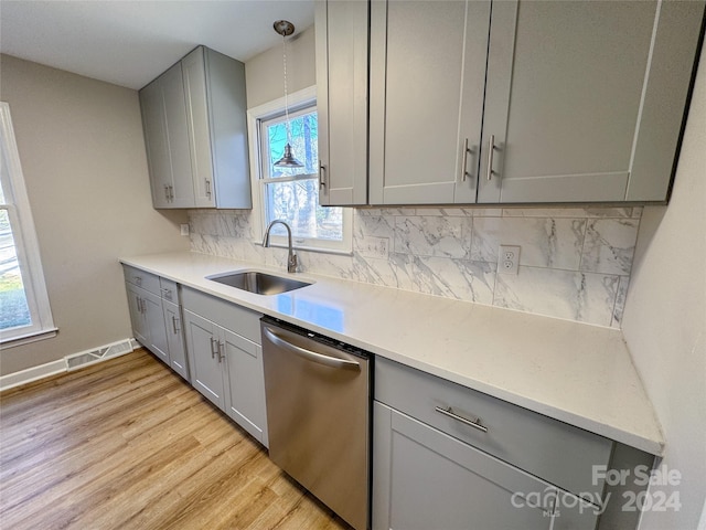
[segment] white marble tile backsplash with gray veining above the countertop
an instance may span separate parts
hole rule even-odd
[[[619,328],[642,208],[355,209],[351,255],[298,251],[301,271]],[[189,212],[195,252],[285,268],[249,211]],[[498,273],[518,245],[520,272]]]

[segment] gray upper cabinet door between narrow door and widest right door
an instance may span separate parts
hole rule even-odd
[[[475,201],[489,24],[489,1],[372,2],[371,204]]]

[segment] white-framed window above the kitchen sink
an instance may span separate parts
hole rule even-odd
[[[281,168],[275,162],[282,157],[287,137],[284,100],[271,102],[249,112],[250,138],[256,146],[258,163],[253,165],[255,208],[259,210],[260,230],[274,220],[287,222],[298,248],[328,252],[351,251],[350,211],[319,205],[318,121],[313,89],[289,96],[289,142],[292,155],[303,167]],[[259,231],[258,231],[259,232]],[[257,234],[257,235],[261,235]],[[270,241],[287,243],[287,231],[272,226]]]

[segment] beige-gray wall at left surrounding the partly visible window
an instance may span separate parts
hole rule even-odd
[[[132,336],[119,256],[189,248],[152,209],[136,91],[8,55],[9,103],[58,336],[4,348],[0,374]]]

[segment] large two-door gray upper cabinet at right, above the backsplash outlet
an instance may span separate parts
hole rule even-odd
[[[666,201],[704,3],[372,0],[368,204]]]

